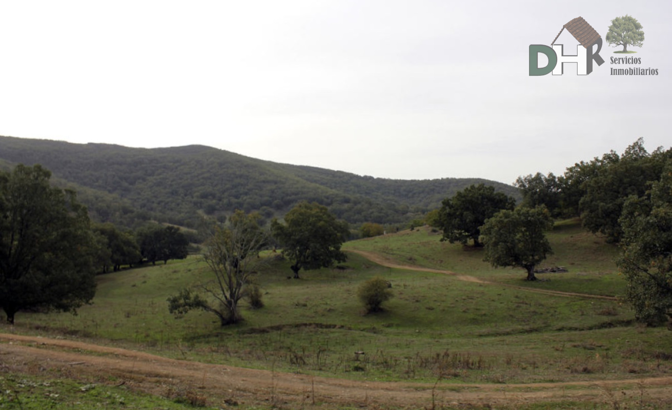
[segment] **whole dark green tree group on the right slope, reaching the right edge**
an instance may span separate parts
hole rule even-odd
[[[620,246],[617,263],[636,319],[672,323],[672,149],[648,153],[639,138],[622,155],[610,151],[560,177],[530,174],[515,185],[519,206],[480,184],[446,198],[427,220],[443,230],[443,241],[483,246],[485,261],[524,268],[535,280],[536,265],[552,252],[544,232],[554,219],[579,217]]]

